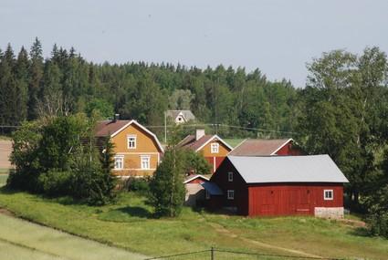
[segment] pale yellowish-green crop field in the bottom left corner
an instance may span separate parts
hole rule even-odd
[[[0,213],[0,259],[145,259],[121,248],[33,224]]]

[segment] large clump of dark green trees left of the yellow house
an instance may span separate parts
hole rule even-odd
[[[109,203],[116,180],[111,174],[112,145],[97,151],[94,123],[85,116],[58,117],[43,124],[26,122],[14,132],[14,151],[7,185],[13,189],[70,195],[90,204]],[[84,140],[84,141],[81,141]]]

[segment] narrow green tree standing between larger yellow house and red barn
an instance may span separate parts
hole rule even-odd
[[[163,161],[153,174],[150,183],[149,201],[155,215],[174,217],[181,213],[184,205],[184,164],[182,151],[170,147]]]

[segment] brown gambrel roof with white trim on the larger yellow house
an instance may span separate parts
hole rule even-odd
[[[115,135],[120,133],[121,130],[126,129],[127,127],[129,127],[132,124],[136,125],[140,129],[144,130],[146,133],[151,135],[152,139],[155,140],[160,151],[162,151],[162,152],[164,151],[163,146],[160,143],[160,141],[158,140],[158,138],[156,137],[156,135],[151,130],[148,130],[145,127],[143,127],[142,124],[140,124],[136,120],[103,120],[103,121],[99,121],[96,124],[95,136],[96,137],[107,137],[107,136],[114,137]]]

